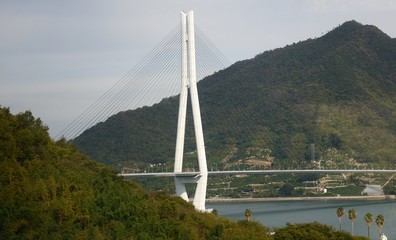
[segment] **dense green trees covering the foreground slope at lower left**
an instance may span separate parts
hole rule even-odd
[[[360,239],[318,223],[271,235],[255,221],[196,212],[52,141],[29,111],[0,108],[0,126],[0,239],[303,239],[302,229],[315,230],[310,239]]]

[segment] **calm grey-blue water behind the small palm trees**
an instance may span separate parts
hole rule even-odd
[[[286,223],[320,222],[339,229],[336,214],[338,207],[345,210],[342,218],[342,229],[351,232],[352,224],[348,218],[348,210],[353,208],[357,213],[354,222],[354,235],[367,236],[367,224],[364,215],[371,213],[373,223],[370,226],[371,239],[378,239],[378,227],[375,223],[377,215],[382,214],[385,224],[382,232],[388,240],[396,240],[396,201],[380,200],[315,200],[315,201],[274,201],[274,202],[223,202],[208,203],[207,208],[214,208],[220,216],[234,220],[245,219],[245,209],[252,211],[252,220],[274,228],[283,227]]]

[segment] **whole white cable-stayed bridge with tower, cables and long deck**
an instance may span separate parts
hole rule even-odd
[[[209,58],[208,58],[209,56]],[[218,57],[220,56],[220,57]],[[180,61],[181,60],[181,61]],[[165,65],[163,63],[166,63]],[[106,120],[111,115],[128,109],[151,106],[161,99],[179,95],[175,164],[172,172],[121,173],[125,178],[173,177],[176,194],[186,201],[187,183],[196,184],[193,204],[205,210],[207,181],[209,176],[240,174],[287,174],[287,173],[396,173],[385,169],[265,169],[209,171],[206,146],[201,120],[197,82],[214,71],[229,65],[228,61],[197,29],[193,12],[181,13],[181,24],[175,28],[134,69],[120,79],[109,91],[73,121],[59,136],[73,139],[84,130]],[[171,81],[168,81],[168,80]],[[236,81],[242,85],[243,82]],[[181,83],[181,84],[180,84]],[[165,90],[166,89],[166,90]],[[191,111],[187,111],[188,99]],[[233,111],[231,109],[231,111]],[[198,171],[183,169],[187,114],[191,113]],[[247,116],[242,116],[247,117]],[[211,116],[216,118],[216,116]],[[227,121],[228,119],[225,119]],[[242,131],[245,129],[242,129]]]

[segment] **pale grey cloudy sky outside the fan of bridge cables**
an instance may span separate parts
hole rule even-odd
[[[1,0],[0,105],[32,111],[56,136],[188,10],[232,63],[349,20],[396,37],[396,0]]]

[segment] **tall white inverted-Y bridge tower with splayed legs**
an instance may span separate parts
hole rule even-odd
[[[196,66],[195,66],[195,36],[194,13],[181,13],[182,30],[182,73],[181,92],[179,102],[179,117],[177,124],[175,172],[182,172],[184,137],[187,114],[188,90],[190,90],[191,106],[194,119],[195,141],[197,145],[198,164],[200,175],[198,178],[175,177],[176,194],[188,201],[185,183],[197,184],[193,204],[196,209],[205,210],[206,188],[208,181],[208,167],[206,163],[205,143],[202,130],[201,111],[199,107]]]

